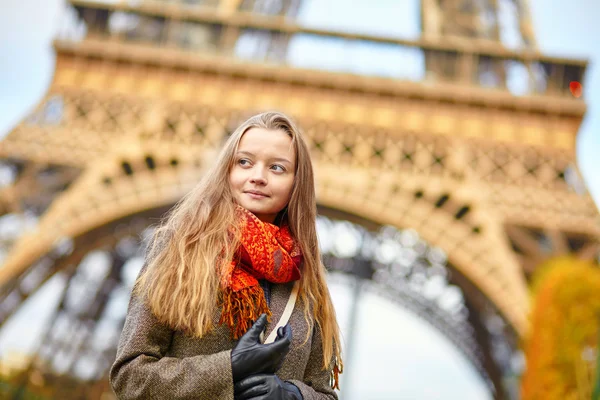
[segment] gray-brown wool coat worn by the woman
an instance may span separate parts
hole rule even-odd
[[[273,285],[271,332],[287,303],[293,283]],[[121,333],[110,384],[119,399],[233,399],[231,339],[227,326],[218,324],[201,339],[160,324],[143,301],[132,296]],[[277,376],[298,386],[305,400],[337,400],[330,386],[330,370],[323,370],[322,342],[318,329],[304,345],[308,325],[298,298],[290,317],[293,339]]]

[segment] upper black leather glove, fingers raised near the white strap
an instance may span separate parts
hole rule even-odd
[[[231,350],[233,383],[253,374],[274,374],[281,368],[290,351],[292,327],[289,324],[282,326],[277,330],[277,338],[273,343],[262,344],[260,334],[266,324],[267,315],[262,314]]]

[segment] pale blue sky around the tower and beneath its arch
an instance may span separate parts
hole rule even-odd
[[[2,0],[0,5],[0,136],[21,120],[41,99],[50,84],[54,55],[50,47],[60,23],[60,0]],[[355,27],[362,32],[391,33],[414,37],[418,6],[416,0],[320,0],[310,2],[302,20],[307,24],[336,29]],[[317,6],[318,4],[318,6]],[[367,6],[367,4],[369,6]],[[373,6],[372,6],[373,5]],[[376,6],[375,6],[376,5]],[[550,55],[583,57],[590,60],[584,81],[588,113],[577,139],[577,161],[596,202],[600,200],[600,1],[530,0],[539,48]],[[339,12],[346,7],[344,12]],[[362,17],[362,18],[361,18]],[[378,21],[374,26],[373,21]],[[365,53],[365,54],[368,54]],[[372,56],[372,54],[371,54]],[[0,331],[0,357],[6,349],[26,351],[35,331],[31,321],[43,321],[53,304],[53,293],[61,286],[60,277],[49,282],[44,293],[34,297],[10,326]],[[340,324],[347,325],[349,288],[332,285]],[[54,296],[56,297],[56,296]],[[37,298],[37,300],[36,300]],[[45,308],[44,308],[45,307]],[[381,382],[378,399],[446,398],[486,399],[485,388],[465,360],[439,333],[398,306],[367,294],[360,313],[370,323],[361,325],[357,339],[357,365],[378,364],[381,369],[360,368],[353,372],[367,386],[353,386],[344,400],[367,399],[369,382]],[[367,317],[368,315],[368,317]],[[400,327],[381,330],[376,326]],[[401,332],[400,339],[390,332]],[[396,360],[389,355],[402,354]],[[377,356],[374,356],[377,355]],[[375,357],[375,358],[373,358]],[[377,374],[377,371],[384,371]],[[374,375],[375,374],[375,375]],[[387,375],[386,375],[387,374]],[[401,382],[396,380],[401,376]],[[354,384],[354,381],[351,383]],[[403,397],[394,387],[400,385]],[[442,390],[442,391],[440,391]]]

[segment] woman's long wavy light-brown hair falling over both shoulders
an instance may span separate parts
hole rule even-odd
[[[252,128],[281,130],[292,139],[296,171],[284,212],[304,256],[299,297],[304,304],[309,333],[315,323],[320,331],[323,368],[331,368],[333,360],[341,372],[339,327],[317,242],[312,162],[302,133],[282,113],[255,115],[231,134],[216,163],[154,231],[146,265],[134,290],[145,297],[158,320],[170,328],[199,338],[212,330],[222,267],[232,259],[239,244],[239,239],[232,240],[231,235],[236,220],[229,172],[242,136]]]

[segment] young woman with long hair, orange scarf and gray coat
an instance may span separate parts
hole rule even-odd
[[[110,371],[119,399],[337,399],[315,222],[300,131],[281,113],[250,118],[155,231]]]

